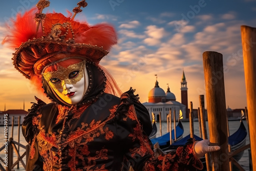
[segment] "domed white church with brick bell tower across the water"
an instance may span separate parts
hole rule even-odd
[[[142,103],[150,114],[155,115],[156,121],[159,121],[161,114],[161,121],[167,121],[167,115],[169,111],[173,113],[175,111],[176,119],[179,118],[180,110],[182,112],[183,118],[186,117],[187,111],[187,86],[186,78],[183,71],[183,76],[181,79],[181,99],[182,103],[176,101],[176,96],[174,93],[170,92],[169,85],[167,86],[167,91],[165,92],[159,87],[159,82],[155,82],[155,87],[148,93],[148,102]],[[184,104],[185,103],[185,104]],[[151,116],[152,117],[152,116]]]

